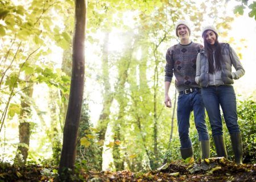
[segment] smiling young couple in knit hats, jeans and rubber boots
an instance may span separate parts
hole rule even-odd
[[[205,125],[207,110],[212,137],[217,156],[227,158],[222,131],[220,106],[228,127],[237,164],[242,164],[242,139],[237,123],[236,94],[233,80],[245,74],[240,60],[227,43],[218,42],[218,32],[214,26],[203,28],[204,48],[189,39],[191,29],[185,20],[179,20],[175,26],[180,43],[170,47],[166,53],[165,99],[171,107],[168,90],[172,76],[179,92],[177,100],[177,125],[180,138],[181,158],[193,156],[193,147],[189,138],[189,118],[194,113],[195,126],[199,135],[201,159],[209,158],[210,143]],[[232,65],[236,72],[232,72]]]

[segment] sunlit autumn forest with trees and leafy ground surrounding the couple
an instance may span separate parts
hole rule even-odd
[[[243,147],[234,163],[180,156],[174,79],[164,105],[175,24],[193,42],[214,24],[240,57],[233,84]],[[0,0],[0,181],[255,181],[256,2],[238,0]],[[222,115],[224,122],[224,117]]]

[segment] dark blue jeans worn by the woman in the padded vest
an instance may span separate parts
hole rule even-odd
[[[232,85],[208,86],[202,88],[202,98],[207,109],[212,128],[212,136],[223,135],[220,106],[222,108],[226,127],[229,133],[239,133],[237,123],[237,102],[236,94]]]

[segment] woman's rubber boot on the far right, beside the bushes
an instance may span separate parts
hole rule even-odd
[[[232,142],[232,147],[233,147],[236,163],[242,164],[243,146],[242,146],[241,133],[230,134],[230,139]]]

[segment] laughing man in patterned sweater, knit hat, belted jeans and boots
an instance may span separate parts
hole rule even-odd
[[[176,77],[175,86],[179,92],[177,100],[177,125],[181,145],[181,158],[187,159],[193,156],[193,147],[189,137],[191,111],[194,113],[195,125],[199,135],[201,159],[209,158],[210,144],[207,126],[205,125],[204,104],[201,99],[200,86],[195,82],[196,57],[203,46],[193,43],[189,39],[191,30],[187,21],[179,20],[176,23],[175,31],[180,39],[180,43],[170,47],[166,53],[164,104],[167,107],[172,106],[168,91],[174,74]]]

